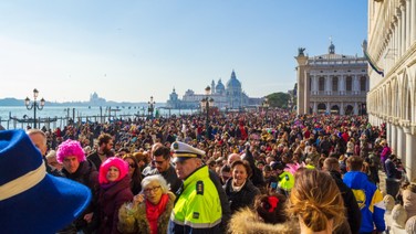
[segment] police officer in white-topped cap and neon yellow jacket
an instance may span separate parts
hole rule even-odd
[[[221,233],[221,201],[202,163],[205,151],[179,141],[171,145],[171,150],[176,173],[184,184],[170,215],[169,233]]]

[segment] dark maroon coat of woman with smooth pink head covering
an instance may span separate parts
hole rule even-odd
[[[128,201],[133,200],[129,187],[129,178],[126,176],[112,187],[100,191],[100,228],[97,233],[119,233],[117,230],[118,210]]]

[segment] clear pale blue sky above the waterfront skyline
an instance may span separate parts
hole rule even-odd
[[[362,55],[363,0],[0,1],[0,98],[163,103],[231,71],[251,97],[287,92],[293,56]]]

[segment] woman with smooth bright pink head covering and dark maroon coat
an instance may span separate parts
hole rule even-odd
[[[128,163],[119,158],[108,158],[100,168],[100,228],[97,233],[119,233],[118,210],[133,200],[129,187]]]

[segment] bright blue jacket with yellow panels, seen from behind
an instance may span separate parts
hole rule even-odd
[[[386,225],[384,222],[385,206],[382,192],[361,171],[346,172],[343,180],[353,190],[361,210],[362,222],[360,232],[373,232],[374,225],[377,232],[383,232]]]

